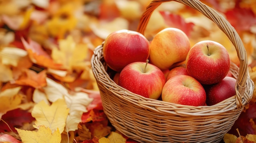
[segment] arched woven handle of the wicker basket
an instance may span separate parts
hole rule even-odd
[[[153,11],[160,4],[162,4],[162,2],[170,2],[170,1],[175,1],[175,2],[185,4],[201,12],[207,18],[212,20],[220,28],[220,30],[222,30],[227,35],[229,40],[235,46],[238,59],[240,61],[239,74],[238,74],[238,78],[236,79],[236,106],[237,108],[240,108],[241,106],[243,106],[242,99],[245,94],[246,81],[248,78],[247,53],[243,45],[243,42],[240,39],[234,27],[231,26],[231,24],[214,9],[210,8],[206,4],[203,4],[199,0],[153,0],[152,2],[150,2],[148,7],[146,7],[146,11],[144,11],[143,15],[141,16],[137,31],[139,33],[144,34],[149,18],[153,13]]]

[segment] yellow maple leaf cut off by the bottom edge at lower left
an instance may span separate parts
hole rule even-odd
[[[45,126],[40,126],[37,132],[15,129],[22,143],[61,143],[61,133],[58,128],[53,133],[49,127]]]

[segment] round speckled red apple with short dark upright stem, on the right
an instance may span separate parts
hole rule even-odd
[[[204,40],[196,43],[186,57],[186,69],[201,84],[216,84],[229,72],[227,49],[218,42]]]

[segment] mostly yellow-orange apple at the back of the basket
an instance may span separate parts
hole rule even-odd
[[[161,70],[186,59],[190,41],[187,35],[177,28],[166,28],[159,31],[150,42],[149,61]]]

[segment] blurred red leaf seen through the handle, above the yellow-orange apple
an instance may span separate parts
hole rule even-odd
[[[186,22],[181,15],[173,14],[168,11],[159,11],[160,14],[163,16],[166,24],[170,27],[174,27],[177,29],[182,30],[186,35],[189,37],[190,32],[193,30],[192,22]]]

